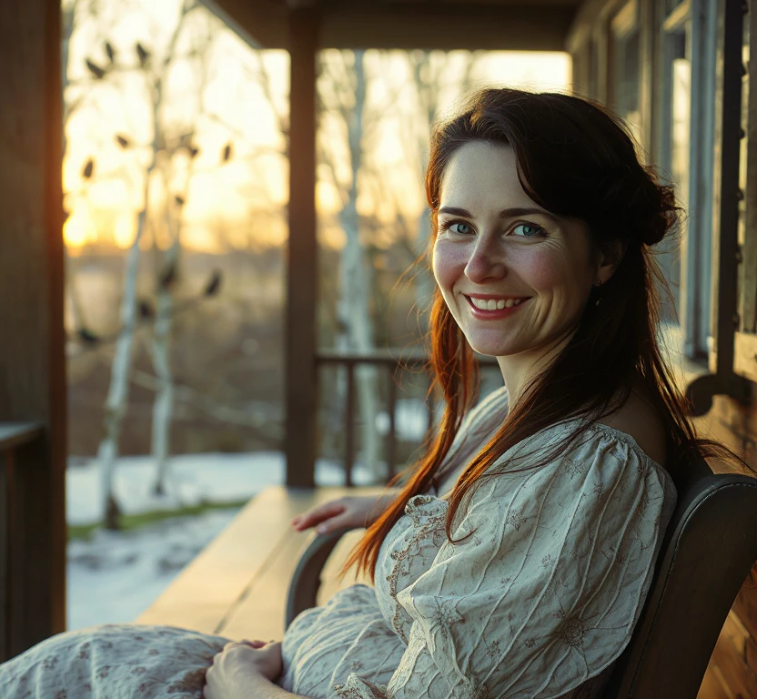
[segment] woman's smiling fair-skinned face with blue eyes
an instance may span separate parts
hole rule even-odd
[[[579,323],[597,279],[585,224],[523,191],[510,147],[460,147],[441,182],[433,269],[470,346],[549,352]]]

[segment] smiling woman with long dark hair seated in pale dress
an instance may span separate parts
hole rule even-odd
[[[369,523],[344,571],[375,587],[300,614],[283,643],[61,634],[1,666],[0,695],[601,693],[675,504],[665,467],[736,458],[694,437],[658,348],[650,248],[676,221],[672,189],[600,106],[510,89],[436,129],[426,188],[439,430],[399,490],[294,522]],[[471,349],[497,357],[505,384],[474,410]]]

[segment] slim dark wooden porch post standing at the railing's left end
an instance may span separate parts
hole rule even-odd
[[[285,432],[287,485],[315,485],[316,456],[316,61],[318,13],[289,16],[289,238]]]

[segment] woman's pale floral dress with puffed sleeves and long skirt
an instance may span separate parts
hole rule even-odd
[[[504,390],[482,401],[449,471],[506,410]],[[537,433],[500,462],[523,468],[523,454],[577,425]],[[289,626],[278,684],[310,699],[597,695],[641,612],[675,488],[629,435],[602,425],[546,467],[506,469],[495,464],[475,492],[455,545],[448,501],[412,498],[383,542],[376,587],[353,585]],[[0,696],[197,698],[224,643],[126,624],[63,633],[0,665]]]

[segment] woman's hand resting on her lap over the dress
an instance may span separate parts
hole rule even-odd
[[[227,643],[207,669],[203,697],[235,699],[247,696],[249,686],[256,678],[265,677],[274,682],[281,670],[281,643]]]

